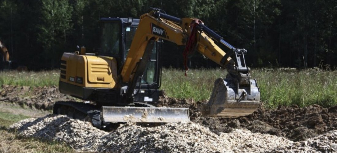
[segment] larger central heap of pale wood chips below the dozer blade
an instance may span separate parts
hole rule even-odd
[[[106,145],[108,152],[121,149],[125,152],[261,152],[292,143],[282,137],[242,129],[217,135],[193,122],[157,127],[126,124],[109,135],[112,139]]]

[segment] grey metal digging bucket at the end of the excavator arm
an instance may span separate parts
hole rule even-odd
[[[260,91],[255,80],[250,86],[238,87],[232,79],[218,78],[208,103],[201,113],[209,117],[235,118],[253,113],[260,105]]]

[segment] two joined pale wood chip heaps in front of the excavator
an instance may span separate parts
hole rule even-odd
[[[25,119],[10,126],[10,130],[17,130],[24,137],[65,142],[84,152],[263,152],[293,143],[244,129],[218,135],[193,122],[155,127],[130,123],[105,132],[62,115]]]

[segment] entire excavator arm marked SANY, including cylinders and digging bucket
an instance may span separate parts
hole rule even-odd
[[[158,39],[187,45],[190,49],[188,52],[196,50],[227,69],[226,79],[219,78],[215,81],[210,100],[201,109],[204,116],[244,116],[259,106],[260,92],[256,81],[250,80],[250,69],[244,59],[246,50],[234,48],[197,19],[179,19],[162,13],[159,9],[153,9],[140,18],[121,71],[122,82],[125,84],[122,87],[123,102],[133,102],[137,80],[142,77],[154,42]],[[192,39],[195,42],[189,42]],[[228,51],[223,51],[215,41],[225,45]]]

